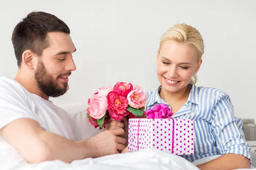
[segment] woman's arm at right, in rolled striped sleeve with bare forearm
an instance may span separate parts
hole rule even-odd
[[[230,97],[222,91],[212,109],[211,127],[222,156],[198,167],[209,170],[250,168],[251,151],[244,139],[241,119],[234,116]]]

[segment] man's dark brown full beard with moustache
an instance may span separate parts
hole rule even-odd
[[[38,87],[45,95],[50,97],[58,97],[65,94],[69,88],[67,82],[63,82],[63,88],[58,85],[59,77],[69,76],[70,74],[71,71],[61,74],[57,77],[57,79],[54,79],[51,75],[49,75],[49,73],[47,73],[44,64],[39,61],[38,68],[35,71],[35,80]]]

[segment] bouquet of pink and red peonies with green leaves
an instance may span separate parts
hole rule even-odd
[[[117,82],[112,88],[101,87],[88,99],[87,120],[99,129],[105,128],[110,118],[117,121],[128,118],[145,118],[144,105],[147,95],[140,86]]]

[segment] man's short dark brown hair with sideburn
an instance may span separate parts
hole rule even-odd
[[[70,34],[67,24],[55,15],[33,11],[23,18],[12,32],[12,44],[18,67],[22,62],[23,51],[29,49],[40,56],[49,45],[47,33],[54,31]]]

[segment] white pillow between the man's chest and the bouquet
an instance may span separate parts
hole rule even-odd
[[[70,117],[73,134],[75,140],[87,140],[92,136],[102,132],[99,127],[94,128],[87,120],[87,103],[73,103],[68,105],[59,105],[59,107],[65,109]]]

